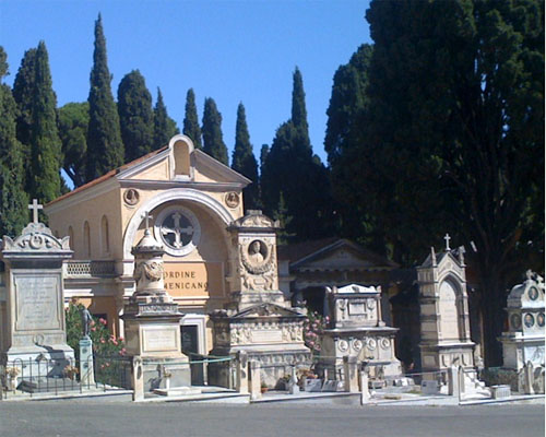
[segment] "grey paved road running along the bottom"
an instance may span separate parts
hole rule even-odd
[[[368,406],[0,402],[0,436],[544,436],[544,404]]]

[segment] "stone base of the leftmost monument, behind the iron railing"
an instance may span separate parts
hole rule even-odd
[[[10,347],[2,354],[1,362],[7,367],[19,368],[19,378],[27,380],[62,378],[68,365],[75,366],[74,351],[68,344]]]

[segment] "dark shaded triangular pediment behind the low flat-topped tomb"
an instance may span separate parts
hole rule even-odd
[[[392,269],[396,264],[353,241],[339,239],[296,260],[290,267],[297,269]]]

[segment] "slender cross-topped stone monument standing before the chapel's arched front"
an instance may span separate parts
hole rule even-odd
[[[190,386],[188,357],[180,347],[178,305],[164,285],[165,250],[149,228],[145,213],[144,237],[133,247],[135,292],[123,308],[127,355],[142,358],[144,389]]]

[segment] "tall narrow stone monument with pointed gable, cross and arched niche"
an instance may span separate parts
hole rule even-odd
[[[438,256],[430,249],[417,268],[420,306],[420,365],[423,371],[447,370],[450,366],[474,368],[468,297],[463,248]]]

